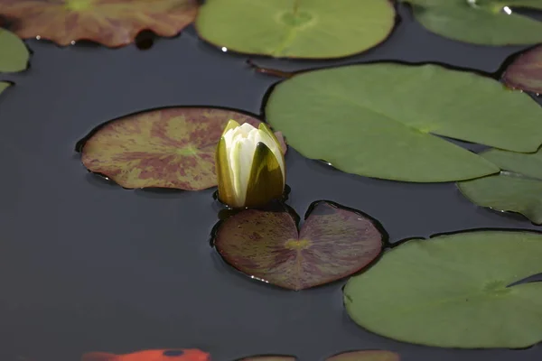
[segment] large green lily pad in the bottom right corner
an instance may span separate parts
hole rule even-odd
[[[528,347],[542,340],[542,235],[474,231],[413,239],[350,278],[344,303],[361,327],[434,347]]]

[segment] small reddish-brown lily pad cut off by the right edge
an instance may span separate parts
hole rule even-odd
[[[542,93],[542,45],[521,54],[502,79],[510,88]]]

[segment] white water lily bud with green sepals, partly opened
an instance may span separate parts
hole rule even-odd
[[[282,197],[285,158],[275,134],[230,120],[216,153],[219,199],[232,208],[264,206]]]

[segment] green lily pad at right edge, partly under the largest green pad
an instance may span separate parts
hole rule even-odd
[[[542,224],[542,150],[512,153],[491,149],[481,156],[502,171],[459,182],[463,195],[482,207],[521,213],[537,225]]]

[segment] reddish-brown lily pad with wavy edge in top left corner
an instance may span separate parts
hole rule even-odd
[[[20,37],[60,45],[89,40],[118,47],[147,29],[174,36],[197,13],[197,0],[0,0],[0,14],[15,19]]]

